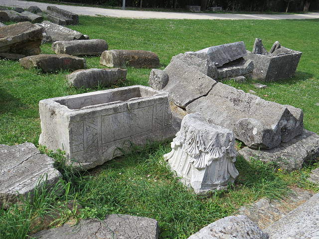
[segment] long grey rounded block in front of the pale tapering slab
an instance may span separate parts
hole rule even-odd
[[[103,39],[76,40],[76,41],[55,41],[52,50],[56,54],[69,55],[101,55],[108,50],[108,43]]]

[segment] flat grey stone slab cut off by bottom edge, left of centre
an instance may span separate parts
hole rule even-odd
[[[31,236],[38,239],[158,239],[159,224],[151,218],[112,214],[102,221],[80,220],[75,227],[64,224]]]

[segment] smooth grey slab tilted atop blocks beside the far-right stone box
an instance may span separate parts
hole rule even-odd
[[[224,45],[207,47],[205,49],[196,51],[193,54],[203,59],[210,59],[216,67],[221,67],[225,63],[245,56],[247,54],[247,51],[244,42],[239,41]]]

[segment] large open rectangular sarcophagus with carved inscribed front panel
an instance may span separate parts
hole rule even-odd
[[[39,102],[39,144],[63,149],[77,170],[101,165],[128,145],[172,138],[167,93],[131,86]]]

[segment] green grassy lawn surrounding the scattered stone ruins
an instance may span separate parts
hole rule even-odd
[[[305,128],[319,133],[319,19],[315,20],[163,20],[124,19],[80,16],[78,26],[70,28],[91,39],[105,39],[109,49],[150,50],[160,57],[164,69],[172,56],[197,51],[208,46],[244,41],[252,50],[255,37],[270,50],[275,41],[282,46],[303,52],[297,72],[291,79],[263,83],[268,88],[255,89],[253,79],[244,84],[226,82],[245,92],[254,90],[265,100],[288,104],[304,111]],[[53,54],[51,45],[41,46],[42,53]],[[105,68],[99,57],[85,57],[88,68]],[[127,81],[121,86],[148,85],[151,69],[128,68]],[[38,145],[41,132],[38,102],[42,99],[95,91],[67,87],[64,75],[26,70],[18,61],[0,59],[0,144]],[[103,87],[100,89],[104,89]],[[43,148],[42,148],[43,149]],[[237,157],[240,176],[227,192],[197,196],[185,189],[162,163],[169,143],[155,143],[144,149],[111,160],[95,170],[72,174],[63,165],[63,154],[48,152],[57,160],[64,177],[66,193],[62,197],[46,193],[34,201],[10,210],[0,211],[0,238],[25,238],[31,232],[80,218],[103,218],[120,213],[158,220],[160,238],[187,238],[202,227],[222,217],[235,214],[239,207],[261,197],[281,198],[290,186],[318,191],[305,179],[314,167],[290,174],[274,173],[258,161],[247,163]],[[65,202],[76,199],[82,210],[67,209]],[[80,207],[80,206],[79,206]],[[58,216],[56,213],[59,212]],[[45,215],[54,220],[45,223]],[[44,222],[40,223],[41,220]],[[42,225],[43,227],[38,227]]]

